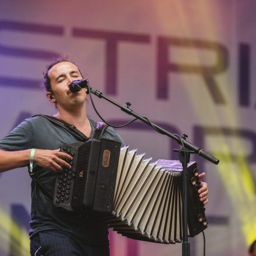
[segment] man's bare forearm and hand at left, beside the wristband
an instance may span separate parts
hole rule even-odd
[[[21,151],[0,150],[0,172],[29,165],[30,152],[31,149]],[[73,159],[69,154],[59,150],[35,150],[34,163],[42,168],[52,170],[52,172],[61,172],[61,165],[71,168],[69,163],[62,158]]]

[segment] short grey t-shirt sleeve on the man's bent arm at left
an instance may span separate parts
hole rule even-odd
[[[24,120],[8,135],[0,139],[0,149],[19,151],[33,148],[33,129],[28,120]]]

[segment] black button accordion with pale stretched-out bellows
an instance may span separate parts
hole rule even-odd
[[[54,205],[67,211],[98,212],[113,230],[131,239],[181,242],[182,165],[179,161],[145,159],[145,154],[102,138],[62,144],[73,156],[71,169],[56,177]],[[188,165],[188,234],[207,228],[196,162]]]

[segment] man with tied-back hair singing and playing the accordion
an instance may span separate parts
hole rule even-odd
[[[49,65],[44,73],[43,84],[49,102],[55,104],[56,119],[75,126],[87,138],[92,138],[95,122],[87,118],[86,89],[71,93],[69,84],[83,79],[74,63],[61,59]],[[111,127],[104,137],[120,141],[120,136]],[[62,127],[55,126],[42,116],[24,120],[0,140],[0,171],[29,165],[33,161],[33,173],[46,190],[52,191],[55,177],[62,166],[70,168],[62,158],[72,160],[60,152],[62,143],[73,143],[77,138]],[[32,150],[33,149],[33,150]],[[34,150],[35,149],[35,150]],[[34,154],[34,157],[33,157]],[[204,173],[200,178],[204,177]],[[200,200],[208,202],[208,188],[202,183]],[[108,228],[93,213],[85,216],[55,208],[45,193],[32,182],[31,255],[109,255]]]

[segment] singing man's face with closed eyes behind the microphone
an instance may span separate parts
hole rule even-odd
[[[77,93],[71,93],[69,84],[74,80],[83,79],[79,69],[71,62],[60,62],[53,66],[48,76],[51,82],[53,99],[57,108],[70,109],[73,106],[84,104],[86,99],[86,89],[82,89]],[[47,93],[49,98],[50,93]]]

